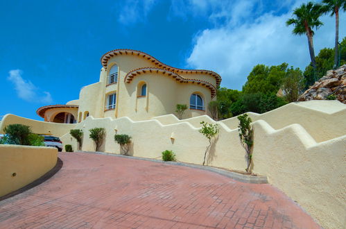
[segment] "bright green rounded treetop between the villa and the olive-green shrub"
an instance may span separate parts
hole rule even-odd
[[[256,65],[248,76],[248,80],[243,85],[243,93],[277,93],[281,86],[282,78],[286,74],[288,64],[268,67],[266,65]]]

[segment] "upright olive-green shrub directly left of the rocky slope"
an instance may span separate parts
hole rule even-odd
[[[305,79],[299,68],[291,67],[287,70],[284,80],[282,80],[282,90],[288,102],[297,101],[305,87]]]

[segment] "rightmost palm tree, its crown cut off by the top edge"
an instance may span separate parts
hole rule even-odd
[[[335,54],[334,54],[334,66],[338,65],[338,42],[339,42],[339,10],[346,10],[345,0],[323,0],[325,3],[325,12],[330,12],[331,16],[335,14]]]

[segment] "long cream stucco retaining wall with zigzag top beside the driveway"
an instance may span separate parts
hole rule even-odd
[[[345,203],[346,199],[346,129],[340,130],[337,137],[326,135],[325,140],[316,142],[309,132],[315,130],[311,119],[322,120],[321,117],[326,114],[318,108],[319,105],[304,103],[306,105],[293,104],[277,109],[275,112],[278,118],[273,120],[266,117],[267,114],[272,115],[268,112],[261,115],[262,119],[254,121],[253,171],[267,176],[270,183],[302,205],[322,226],[340,228],[346,214],[345,204],[340,204]],[[340,117],[337,117],[339,126],[345,125],[346,105],[325,101],[322,106],[330,107],[330,110],[334,111],[329,112],[330,117],[340,114]],[[310,119],[296,119],[295,124],[288,121],[287,126],[273,128],[280,123],[285,124],[286,112],[309,114]],[[264,119],[268,119],[268,122]],[[165,125],[161,121],[173,124]],[[119,145],[114,142],[114,133],[128,134],[132,137],[132,155],[160,158],[161,152],[169,149],[175,152],[181,162],[201,164],[207,139],[198,133],[200,121],[215,123],[207,116],[182,121],[172,115],[147,121],[132,121],[128,117],[88,117],[76,128],[83,129],[85,133],[85,151],[94,151],[94,144],[88,138],[89,129],[103,127],[107,130],[107,135],[102,151],[120,153]],[[273,123],[273,126],[269,123]],[[210,149],[207,164],[243,171],[246,167],[245,151],[239,143],[238,130],[232,126],[232,121],[219,121],[217,124],[220,133]],[[326,131],[330,127],[321,124],[319,128],[321,133],[328,133]],[[76,142],[69,134],[62,136],[62,141],[64,144],[72,143],[73,149],[76,149]]]

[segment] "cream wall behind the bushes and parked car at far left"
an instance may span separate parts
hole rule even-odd
[[[9,124],[23,124],[30,126],[33,133],[40,135],[53,135],[56,137],[60,137],[76,127],[76,124],[56,124],[52,122],[26,119],[14,114],[6,114],[0,122],[0,133],[3,133],[3,128]]]

